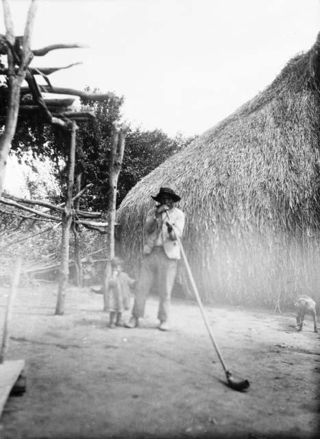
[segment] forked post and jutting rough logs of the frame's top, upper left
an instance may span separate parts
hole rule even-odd
[[[59,126],[64,130],[70,130],[71,120],[85,120],[93,117],[90,113],[73,112],[68,107],[74,99],[49,99],[46,102],[42,96],[43,91],[48,93],[58,93],[64,95],[74,95],[84,99],[99,101],[108,99],[113,93],[97,95],[86,93],[85,91],[74,90],[73,88],[53,87],[47,75],[67,67],[37,69],[29,67],[34,56],[45,56],[49,51],[55,49],[69,49],[81,47],[80,45],[56,44],[41,49],[32,50],[30,47],[34,18],[36,14],[37,0],[31,0],[27,14],[27,22],[23,36],[14,35],[14,27],[8,0],[2,0],[3,15],[5,21],[6,34],[0,34],[0,75],[5,77],[5,81],[0,86],[0,116],[5,115],[5,125],[0,135],[0,196],[3,191],[3,180],[5,176],[5,165],[10,152],[12,139],[16,131],[19,115],[25,114],[42,117],[46,123]],[[6,64],[3,64],[2,57],[6,56]],[[36,81],[36,75],[42,75],[47,85],[42,86],[41,90]],[[27,82],[27,87],[21,87],[23,80]]]

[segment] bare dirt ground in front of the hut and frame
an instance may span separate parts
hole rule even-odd
[[[3,320],[8,289],[0,289]],[[102,296],[20,289],[7,359],[25,359],[27,392],[10,396],[5,439],[319,437],[319,335],[293,313],[206,307],[223,357],[247,392],[225,385],[194,302],[173,300],[172,330],[157,329],[157,298],[140,329],[108,329]],[[293,311],[294,312],[294,311]],[[320,334],[320,332],[319,332]]]

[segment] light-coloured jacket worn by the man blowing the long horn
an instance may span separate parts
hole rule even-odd
[[[145,233],[146,233],[146,244],[143,248],[144,254],[149,254],[153,250],[156,239],[159,233],[162,234],[162,245],[165,254],[169,259],[180,259],[180,246],[175,239],[182,237],[182,232],[184,230],[184,213],[173,207],[167,211],[169,219],[166,213],[162,213],[162,219],[156,221],[156,208],[150,209],[147,213],[147,219],[145,221]],[[168,233],[166,222],[173,225],[173,233]]]

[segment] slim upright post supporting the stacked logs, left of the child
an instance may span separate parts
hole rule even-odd
[[[64,313],[64,297],[66,294],[66,287],[69,278],[69,241],[70,241],[70,228],[73,217],[73,179],[75,176],[75,136],[77,131],[77,125],[72,122],[71,126],[71,139],[70,139],[70,151],[68,160],[68,180],[66,186],[66,203],[64,206],[64,212],[62,213],[62,239],[61,239],[61,259],[60,259],[60,276],[58,283],[58,298],[56,305],[56,316],[62,316]]]

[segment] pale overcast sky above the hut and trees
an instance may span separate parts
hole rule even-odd
[[[200,134],[262,91],[320,29],[319,0],[39,0],[36,67],[84,64],[56,86],[125,96],[124,117],[174,135]],[[22,34],[28,0],[10,0]],[[2,12],[2,11],[1,11]],[[3,20],[0,32],[4,33]]]

